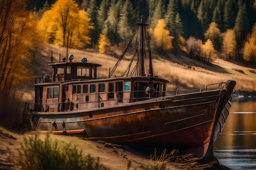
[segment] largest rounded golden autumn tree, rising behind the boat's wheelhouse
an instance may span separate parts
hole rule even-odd
[[[40,20],[50,43],[57,46],[83,47],[90,44],[89,30],[92,26],[84,10],[74,0],[57,0],[43,13]]]

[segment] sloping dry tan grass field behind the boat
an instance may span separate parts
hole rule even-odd
[[[68,49],[68,54],[74,55],[73,62],[80,62],[82,57],[86,57],[88,62],[101,64],[102,66],[97,70],[97,77],[107,77],[110,70],[115,66],[121,49],[111,47],[112,53],[109,55],[100,54],[94,49]],[[43,51],[40,51],[41,56],[36,57],[34,63],[34,76],[43,77],[43,75],[51,75],[52,68],[48,66],[51,62],[50,57],[53,52],[54,62],[59,61],[59,56],[66,57],[67,49],[63,47],[56,47],[49,45]],[[132,58],[134,52],[126,54],[120,62],[119,67],[114,75],[120,76]],[[190,59],[184,55],[174,56],[165,54],[159,55],[152,53],[153,69],[155,75],[160,78],[167,79],[170,83],[167,86],[167,91],[189,90],[196,88],[205,88],[207,84],[225,82],[226,80],[235,80],[237,85],[235,87],[238,94],[255,94],[256,93],[256,64],[245,65],[242,62],[227,62],[217,58],[212,64],[208,65],[206,62],[199,62],[195,59]],[[34,80],[33,80],[34,81]],[[31,83],[32,87],[33,82]],[[27,89],[32,89],[24,96],[26,99],[31,99],[34,88],[30,86]]]

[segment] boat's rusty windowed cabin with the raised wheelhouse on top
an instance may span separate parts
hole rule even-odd
[[[36,106],[33,110],[36,111],[72,111],[163,97],[168,82],[146,76],[97,78],[97,67],[101,65],[87,62],[63,59],[49,66],[52,66],[52,77],[36,78],[34,84]],[[147,94],[148,87],[152,90]]]

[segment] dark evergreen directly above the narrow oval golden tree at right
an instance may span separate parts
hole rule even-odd
[[[225,30],[232,29],[235,25],[236,14],[232,0],[227,0],[224,7],[223,22]]]

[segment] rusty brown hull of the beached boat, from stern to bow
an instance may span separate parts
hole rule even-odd
[[[70,112],[24,111],[24,125],[93,141],[186,150],[212,160],[212,145],[227,119],[235,85],[227,81],[218,90]]]

